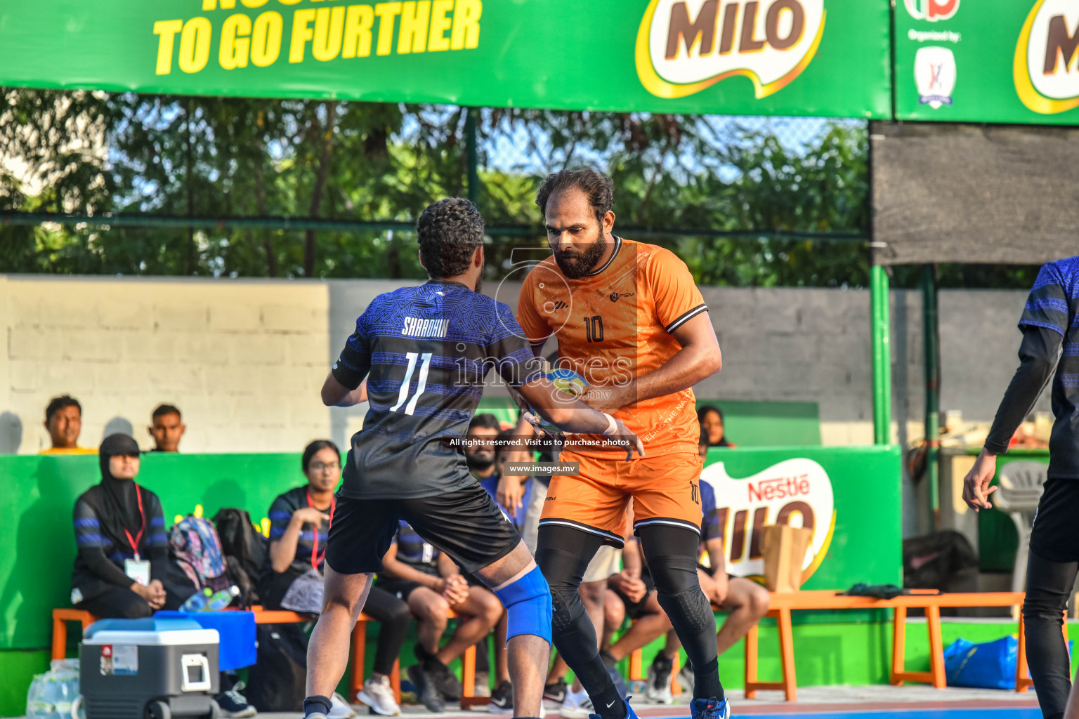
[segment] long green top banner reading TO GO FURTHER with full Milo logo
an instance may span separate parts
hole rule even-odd
[[[888,0],[13,1],[0,86],[880,119],[889,22]]]

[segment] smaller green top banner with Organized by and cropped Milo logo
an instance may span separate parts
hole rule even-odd
[[[896,117],[1079,123],[1075,0],[897,0]]]

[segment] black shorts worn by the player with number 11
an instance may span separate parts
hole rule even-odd
[[[377,572],[405,520],[424,541],[446,552],[465,573],[509,554],[521,536],[479,483],[419,499],[338,496],[326,543],[326,564],[341,575]]]

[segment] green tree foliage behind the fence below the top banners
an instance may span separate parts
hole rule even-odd
[[[27,89],[0,98],[0,210],[411,222],[467,192],[463,108]],[[543,177],[591,165],[615,180],[625,234],[670,247],[702,284],[868,282],[862,123],[817,123],[792,138],[791,126],[724,117],[489,109],[477,119],[480,207],[489,226],[519,227],[493,238],[492,278],[514,247],[543,247],[527,230],[541,224]],[[792,232],[862,240],[775,236]],[[0,225],[0,272],[424,276],[408,232],[50,223]],[[944,268],[941,278],[1026,274]]]

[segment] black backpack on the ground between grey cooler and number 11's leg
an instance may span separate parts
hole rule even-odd
[[[259,624],[258,660],[247,669],[247,701],[259,711],[303,711],[308,637],[302,624]]]

